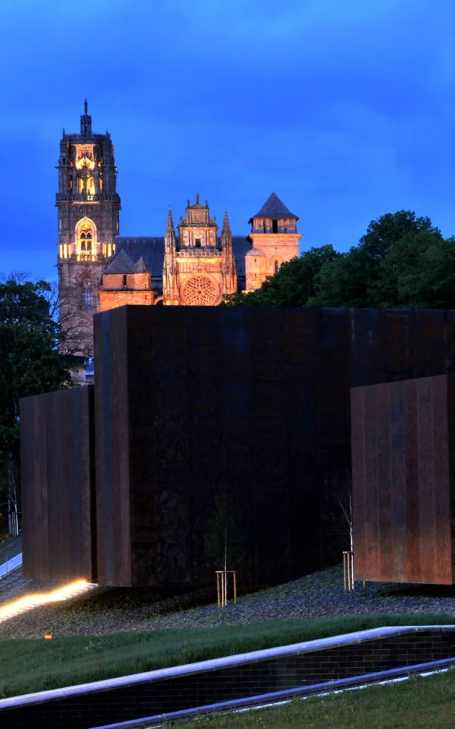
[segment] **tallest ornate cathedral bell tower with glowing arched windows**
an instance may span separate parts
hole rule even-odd
[[[92,356],[92,319],[99,308],[101,275],[115,254],[120,198],[111,135],[92,132],[87,99],[79,134],[63,129],[57,169],[58,282],[65,348],[71,354]]]

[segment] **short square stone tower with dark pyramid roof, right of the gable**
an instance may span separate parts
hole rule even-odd
[[[272,192],[261,210],[248,221],[253,247],[245,256],[246,290],[259,289],[280,265],[298,256],[298,217]]]

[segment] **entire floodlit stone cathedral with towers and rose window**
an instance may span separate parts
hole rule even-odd
[[[92,356],[92,316],[125,304],[216,306],[223,296],[257,289],[298,256],[298,217],[274,193],[232,235],[221,232],[205,200],[186,202],[177,232],[167,212],[164,238],[119,235],[120,198],[111,135],[92,132],[87,100],[80,132],[63,129],[58,160],[60,321],[68,351]]]

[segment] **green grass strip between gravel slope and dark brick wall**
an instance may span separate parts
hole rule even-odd
[[[455,616],[356,615],[326,620],[267,620],[213,628],[130,631],[106,636],[62,636],[52,640],[44,636],[4,639],[0,642],[0,665],[4,666],[0,671],[0,698],[383,625],[438,624],[455,624]]]

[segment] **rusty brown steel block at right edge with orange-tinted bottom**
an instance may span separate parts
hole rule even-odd
[[[455,375],[352,389],[357,580],[454,583],[454,392]]]

